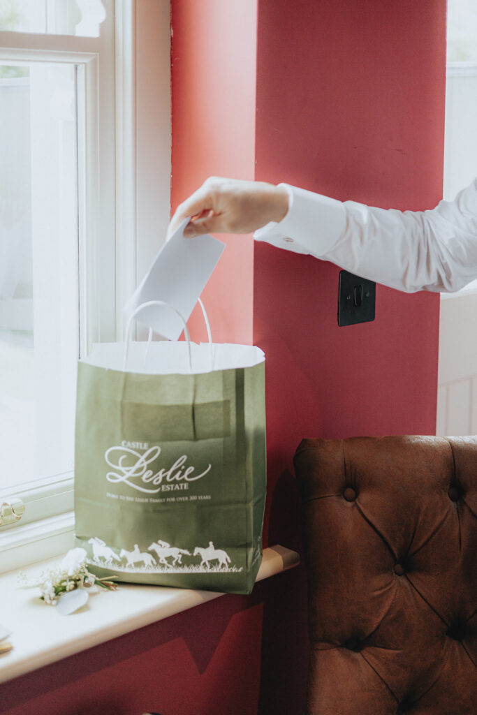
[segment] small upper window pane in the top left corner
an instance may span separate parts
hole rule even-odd
[[[0,0],[0,30],[98,37],[101,0]]]

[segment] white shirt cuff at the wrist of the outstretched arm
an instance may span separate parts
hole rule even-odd
[[[280,222],[271,221],[255,231],[255,240],[295,253],[324,256],[345,231],[343,203],[289,184],[278,185],[287,190],[287,214]]]

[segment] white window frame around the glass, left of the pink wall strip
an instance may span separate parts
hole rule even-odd
[[[79,185],[80,355],[121,340],[122,306],[164,238],[170,212],[170,3],[103,0],[99,37],[0,31],[0,59],[78,64],[87,146]],[[81,132],[79,132],[81,134]],[[0,572],[72,546],[73,475],[1,493],[25,513],[0,526]]]

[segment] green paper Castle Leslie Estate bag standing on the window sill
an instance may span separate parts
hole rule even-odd
[[[265,504],[263,352],[127,349],[127,369],[124,343],[79,362],[76,546],[98,576],[250,593]]]

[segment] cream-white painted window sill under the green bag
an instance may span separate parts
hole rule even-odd
[[[34,576],[54,561],[57,559],[36,563],[24,571]],[[265,548],[257,581],[298,563],[300,556],[295,551],[283,546]],[[14,646],[0,656],[0,682],[224,595],[121,583],[117,591],[92,595],[77,613],[60,616],[54,606],[39,600],[36,591],[16,588],[17,573],[11,571],[0,576],[1,624],[12,632],[9,641]]]

